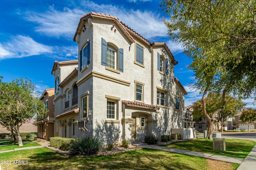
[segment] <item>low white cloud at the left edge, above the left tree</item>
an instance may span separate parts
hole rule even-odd
[[[0,44],[0,59],[21,58],[51,52],[52,47],[37,43],[32,38],[22,35],[11,37],[8,43]]]

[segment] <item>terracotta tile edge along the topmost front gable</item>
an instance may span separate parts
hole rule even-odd
[[[124,33],[126,33],[126,35],[128,35],[128,37],[130,38],[130,40],[131,40],[132,42],[134,42],[134,39],[132,38],[132,36],[130,35],[130,33],[128,33],[128,32],[126,31],[126,29],[124,28],[123,24],[119,21],[119,19],[118,19],[117,17],[111,16],[111,15],[107,15],[107,14],[100,14],[100,13],[98,13],[98,12],[88,12],[87,14],[85,14],[84,16],[82,16],[82,17],[80,18],[80,21],[79,21],[79,23],[78,23],[78,27],[76,28],[76,33],[75,33],[75,35],[74,35],[74,37],[73,37],[73,41],[76,41],[76,35],[77,35],[77,33],[79,32],[79,28],[80,28],[80,25],[81,25],[81,21],[82,21],[82,20],[86,20],[87,18],[90,18],[90,17],[92,17],[92,18],[93,18],[93,17],[107,18],[107,19],[112,19],[112,20],[117,21],[117,23],[120,25],[120,27],[121,27],[122,29],[124,29]]]

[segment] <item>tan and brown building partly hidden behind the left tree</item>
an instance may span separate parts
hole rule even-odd
[[[48,112],[44,117],[37,119],[37,136],[42,139],[48,140],[50,137],[54,137],[54,88],[46,89],[42,93],[40,100],[46,105]]]

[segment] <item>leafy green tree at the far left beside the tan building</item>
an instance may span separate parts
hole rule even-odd
[[[14,141],[18,136],[19,146],[23,146],[19,131],[22,123],[36,114],[47,113],[46,106],[38,99],[34,89],[34,84],[27,78],[8,83],[2,82],[0,77],[0,124],[11,131]]]

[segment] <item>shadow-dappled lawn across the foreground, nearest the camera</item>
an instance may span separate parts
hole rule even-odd
[[[162,150],[140,149],[115,155],[89,158],[68,158],[47,148],[19,150],[0,154],[0,160],[10,160],[2,164],[2,169],[47,170],[47,169],[154,169],[154,170],[208,170],[207,159],[165,152]],[[28,164],[12,164],[13,160],[28,161]],[[233,169],[238,164],[232,164]]]

